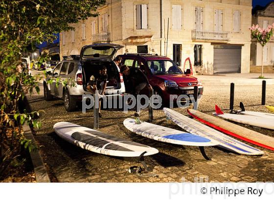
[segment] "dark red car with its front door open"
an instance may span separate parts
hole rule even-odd
[[[203,94],[204,87],[193,76],[189,58],[184,61],[182,71],[170,58],[157,54],[126,53],[119,56],[122,57],[121,65],[140,68],[143,71],[154,93],[160,95],[164,103],[170,102],[170,95],[194,94],[194,86],[198,86],[198,95]],[[145,88],[142,94],[147,93],[148,90]]]

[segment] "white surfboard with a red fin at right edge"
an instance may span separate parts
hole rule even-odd
[[[213,115],[221,117],[223,119],[227,119],[240,124],[257,126],[257,127],[274,130],[273,118],[251,116],[251,115],[228,114],[228,113],[223,113],[222,110],[217,105],[215,106],[215,108],[216,108],[216,113],[213,113]]]

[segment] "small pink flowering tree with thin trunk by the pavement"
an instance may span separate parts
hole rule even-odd
[[[259,25],[252,25],[250,28],[251,30],[251,38],[255,38],[257,42],[261,44],[263,47],[262,50],[262,71],[260,78],[263,78],[263,71],[264,71],[264,46],[267,42],[273,37],[274,34],[274,23],[273,25],[268,25],[267,28],[261,28]]]

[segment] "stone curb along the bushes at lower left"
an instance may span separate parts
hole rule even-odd
[[[33,145],[37,147],[35,139],[32,135],[31,129],[27,124],[23,125],[24,136],[26,139],[31,140]],[[50,182],[49,176],[46,172],[45,164],[42,160],[39,150],[31,151],[30,153],[35,177],[37,182]]]

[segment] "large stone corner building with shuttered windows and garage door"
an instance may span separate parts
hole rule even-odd
[[[118,53],[158,53],[197,74],[249,73],[251,0],[107,0],[100,15],[60,34],[61,55],[110,42]]]

